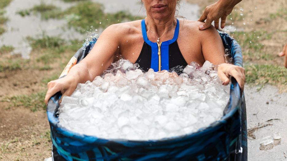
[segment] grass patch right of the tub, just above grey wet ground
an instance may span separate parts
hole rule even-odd
[[[287,85],[287,70],[284,67],[278,67],[267,64],[255,64],[246,66],[246,83],[271,85]]]

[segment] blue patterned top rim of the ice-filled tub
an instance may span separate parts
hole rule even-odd
[[[224,32],[220,32],[219,34],[223,40],[223,45],[226,48],[228,46],[228,48],[231,49],[234,46],[236,46],[237,51],[233,51],[231,52],[231,55],[234,59],[234,54],[239,54],[241,55],[241,57],[239,57],[238,59],[234,59],[234,64],[242,66],[241,62],[242,62],[242,52],[241,52],[241,48],[239,46],[239,44],[236,42],[235,39],[233,39],[229,34],[224,33]],[[224,38],[223,38],[224,37]],[[229,42],[228,42],[229,41]],[[225,42],[225,44],[224,44]],[[238,63],[239,62],[239,63]],[[80,133],[76,133],[76,132],[72,132],[64,127],[60,127],[58,125],[59,123],[59,119],[57,115],[57,110],[59,108],[59,100],[61,97],[61,93],[58,92],[57,94],[55,94],[54,96],[52,96],[50,98],[50,100],[48,101],[48,105],[47,105],[47,117],[48,117],[48,121],[50,123],[50,128],[56,128],[56,131],[59,132],[60,134],[66,136],[66,137],[73,137],[75,140],[80,140],[86,143],[94,143],[95,141],[97,141],[98,143],[106,143],[109,141],[114,141],[114,142],[118,142],[118,143],[123,143],[123,144],[127,144],[127,145],[143,145],[143,144],[161,144],[162,142],[165,141],[176,141],[176,140],[182,140],[184,138],[188,139],[191,137],[196,137],[198,135],[200,135],[201,133],[205,133],[205,132],[212,132],[212,131],[216,131],[218,128],[221,128],[223,125],[226,124],[226,120],[229,117],[232,117],[234,113],[236,113],[239,108],[240,108],[240,88],[239,85],[237,83],[237,81],[233,78],[231,80],[231,87],[230,87],[230,99],[229,102],[227,104],[227,106],[225,107],[225,109],[227,109],[227,113],[225,115],[223,115],[223,117],[220,118],[220,120],[215,121],[213,123],[211,123],[209,126],[204,127],[204,128],[200,128],[198,131],[196,132],[192,132],[192,133],[188,133],[188,134],[184,134],[184,135],[180,135],[180,136],[173,136],[173,137],[167,137],[167,138],[163,138],[163,139],[158,139],[158,140],[127,140],[127,139],[105,139],[105,138],[100,138],[97,136],[89,136],[89,135],[83,135]]]

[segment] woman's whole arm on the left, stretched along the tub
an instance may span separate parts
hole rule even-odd
[[[91,52],[78,64],[73,66],[64,78],[48,82],[48,91],[45,103],[58,91],[64,95],[71,95],[78,83],[92,81],[96,76],[103,73],[113,62],[114,54],[120,46],[119,35],[121,30],[117,29],[120,24],[109,26],[103,31]]]

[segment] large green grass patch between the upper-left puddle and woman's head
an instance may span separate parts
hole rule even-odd
[[[122,20],[134,20],[134,16],[125,11],[104,13],[101,4],[90,1],[78,3],[76,6],[72,6],[61,13],[52,13],[46,16],[47,18],[65,18],[69,27],[73,27],[81,33],[85,33],[85,30],[90,28],[90,26],[106,28]]]

